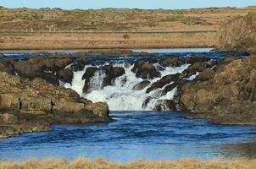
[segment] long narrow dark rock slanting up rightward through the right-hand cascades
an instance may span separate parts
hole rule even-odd
[[[149,88],[147,88],[146,93],[150,93],[153,90],[159,89],[164,87],[164,85],[168,85],[171,82],[177,81],[179,78],[180,74],[170,74],[164,76],[162,79],[159,79],[153,85],[151,85]]]

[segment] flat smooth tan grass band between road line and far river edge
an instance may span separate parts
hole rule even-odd
[[[215,31],[25,33],[3,32],[0,50],[212,47]]]

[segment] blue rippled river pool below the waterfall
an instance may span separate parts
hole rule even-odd
[[[253,126],[215,125],[175,112],[111,112],[116,121],[56,125],[52,132],[0,140],[0,161],[103,158],[107,161],[253,158]]]

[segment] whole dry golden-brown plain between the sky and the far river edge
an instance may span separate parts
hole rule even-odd
[[[212,47],[226,19],[256,8],[0,11],[0,50],[68,50]]]

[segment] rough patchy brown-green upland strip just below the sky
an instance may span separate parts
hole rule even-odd
[[[201,8],[182,10],[0,8],[0,30],[170,30],[200,26],[213,30],[229,15],[247,14],[255,8]],[[214,14],[214,15],[213,15]],[[214,25],[214,26],[211,26]]]

